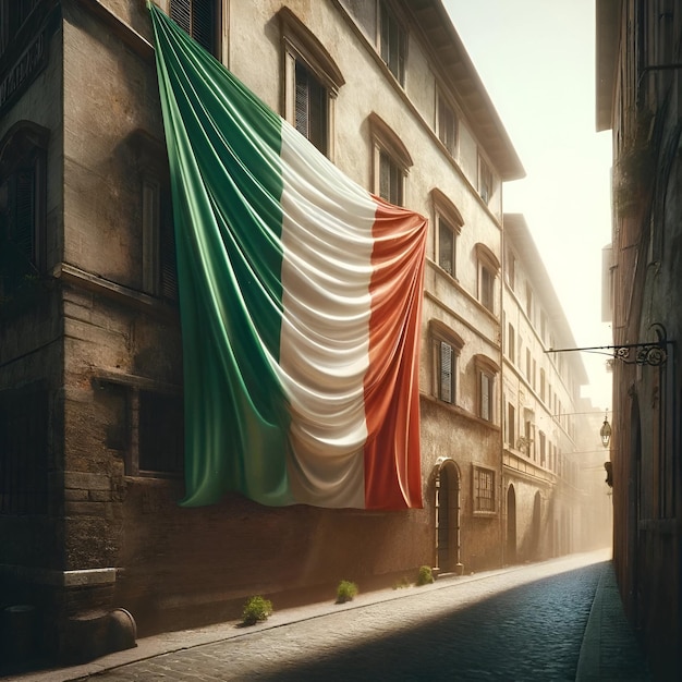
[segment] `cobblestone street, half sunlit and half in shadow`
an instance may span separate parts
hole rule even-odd
[[[276,612],[229,638],[77,679],[574,680],[604,565],[581,555],[361,595],[294,622]]]

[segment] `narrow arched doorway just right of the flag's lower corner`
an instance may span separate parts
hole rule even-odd
[[[453,460],[436,470],[436,562],[441,573],[460,563],[460,472]]]

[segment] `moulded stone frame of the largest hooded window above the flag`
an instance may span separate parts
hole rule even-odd
[[[303,69],[308,77],[316,82],[324,95],[324,111],[320,113],[324,138],[321,144],[315,144],[327,158],[333,160],[334,157],[334,115],[336,100],[340,88],[345,84],[345,80],[336,61],[310,32],[310,29],[292,12],[288,7],[283,7],[278,12],[281,32],[282,49],[282,111],[284,119],[291,123],[307,139],[308,134],[304,133],[297,125],[296,103],[297,93],[300,93],[296,78],[296,69]]]

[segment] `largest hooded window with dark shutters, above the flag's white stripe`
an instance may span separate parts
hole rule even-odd
[[[282,8],[279,17],[284,49],[284,118],[332,158],[334,102],[345,81],[325,46],[289,8]]]

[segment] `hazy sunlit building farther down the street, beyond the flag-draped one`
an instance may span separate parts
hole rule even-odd
[[[585,549],[583,514],[598,500],[584,497],[582,476],[592,459],[585,367],[580,353],[550,352],[574,349],[573,333],[524,217],[506,214],[503,234],[503,534],[504,560],[514,563]]]

